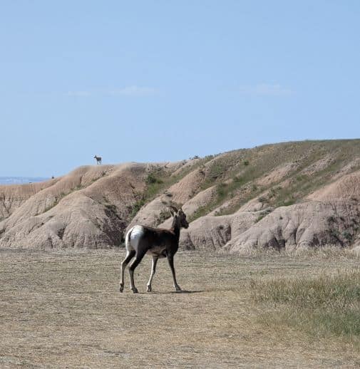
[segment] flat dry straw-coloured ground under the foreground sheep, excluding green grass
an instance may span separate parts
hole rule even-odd
[[[259,321],[252,279],[358,269],[359,260],[180,252],[118,292],[123,249],[0,250],[0,368],[359,368],[359,348]],[[125,274],[128,285],[128,273]]]

